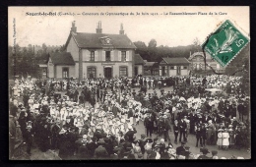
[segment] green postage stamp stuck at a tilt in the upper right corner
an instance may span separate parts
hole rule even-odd
[[[226,20],[202,44],[202,48],[225,67],[248,42],[249,38],[235,28],[229,20]]]

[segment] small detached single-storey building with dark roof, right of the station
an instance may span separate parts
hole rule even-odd
[[[160,77],[189,75],[189,61],[184,58],[162,58],[160,61]]]

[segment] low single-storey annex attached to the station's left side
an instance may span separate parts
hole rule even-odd
[[[75,61],[69,52],[50,53],[48,78],[66,79],[75,76]]]

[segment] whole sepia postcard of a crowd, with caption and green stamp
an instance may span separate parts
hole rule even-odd
[[[9,160],[251,159],[249,6],[9,6]]]

